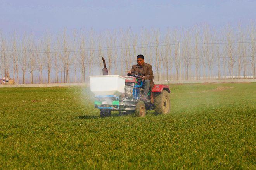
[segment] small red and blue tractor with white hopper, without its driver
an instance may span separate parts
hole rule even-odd
[[[134,113],[144,117],[146,110],[155,110],[157,114],[170,112],[170,89],[168,85],[154,85],[148,92],[148,100],[142,101],[145,80],[138,72],[128,76],[108,75],[105,60],[103,76],[90,76],[90,88],[95,94],[95,108],[100,109],[100,116],[111,116],[111,111],[119,114]]]

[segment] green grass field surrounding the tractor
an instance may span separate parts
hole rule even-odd
[[[89,88],[0,88],[0,169],[256,168],[256,83],[170,89],[170,114],[102,119]]]

